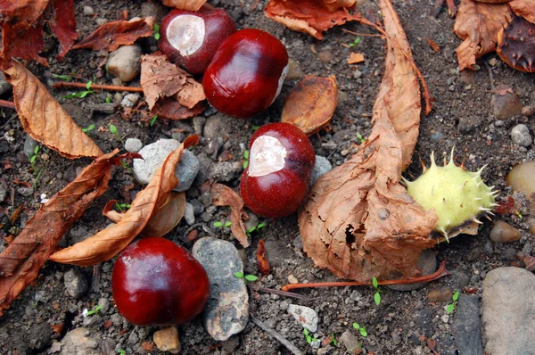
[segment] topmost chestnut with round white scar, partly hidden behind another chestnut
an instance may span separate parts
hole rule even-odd
[[[158,46],[170,62],[202,74],[219,45],[235,31],[235,22],[225,10],[173,10],[161,21]]]

